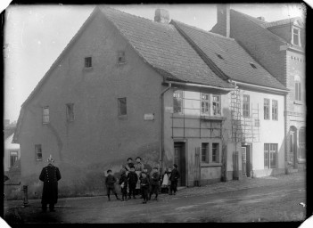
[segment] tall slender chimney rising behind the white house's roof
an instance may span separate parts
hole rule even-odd
[[[218,4],[218,24],[219,24],[219,34],[224,37],[229,37],[230,33],[230,19],[229,19],[229,4]]]

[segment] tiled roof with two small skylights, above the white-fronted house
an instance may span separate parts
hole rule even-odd
[[[211,61],[228,77],[244,83],[286,89],[257,61],[245,52],[235,39],[204,31],[174,20],[187,38],[190,38]],[[251,63],[256,67],[253,68]]]

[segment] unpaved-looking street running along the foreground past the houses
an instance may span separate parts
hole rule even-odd
[[[153,197],[152,197],[153,198]],[[41,212],[40,199],[4,201],[4,220],[14,223],[188,223],[303,221],[305,173],[244,178],[227,183],[180,189],[159,200],[119,201],[106,196],[59,199],[56,212]]]

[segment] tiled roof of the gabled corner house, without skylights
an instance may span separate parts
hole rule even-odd
[[[136,52],[163,77],[171,80],[230,88],[218,77],[171,24],[100,7]]]

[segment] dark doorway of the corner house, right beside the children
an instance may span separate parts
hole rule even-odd
[[[185,186],[185,142],[174,142],[174,163],[180,174],[178,186]]]

